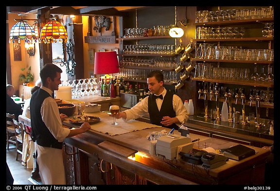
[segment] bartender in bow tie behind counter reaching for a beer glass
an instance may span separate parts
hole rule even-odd
[[[163,73],[159,70],[152,71],[147,76],[150,96],[145,97],[141,102],[120,112],[116,118],[123,118],[125,122],[138,119],[149,113],[150,122],[167,128],[178,129],[178,125],[188,120],[187,110],[181,98],[163,87]]]

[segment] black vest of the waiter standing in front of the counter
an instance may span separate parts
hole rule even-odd
[[[41,106],[48,97],[51,97],[51,95],[41,88],[32,94],[30,101],[31,138],[40,146],[62,149],[62,142],[58,142],[58,140],[53,137],[42,120],[40,112]]]

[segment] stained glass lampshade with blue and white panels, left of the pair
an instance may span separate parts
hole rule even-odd
[[[18,43],[20,43],[20,40],[25,40],[26,43],[34,42],[36,39],[34,28],[26,21],[20,20],[18,21],[11,29],[10,31],[10,39],[13,43],[15,40],[18,40]]]

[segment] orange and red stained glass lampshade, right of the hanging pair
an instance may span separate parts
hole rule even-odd
[[[67,42],[67,30],[63,24],[52,18],[45,24],[45,26],[43,26],[40,34],[40,41],[44,43],[51,43],[57,42],[57,39],[59,42]]]

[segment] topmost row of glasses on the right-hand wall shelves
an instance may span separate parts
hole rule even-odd
[[[227,9],[218,11],[201,10],[195,12],[196,23],[270,17],[274,17],[273,7],[261,7],[251,9]]]

